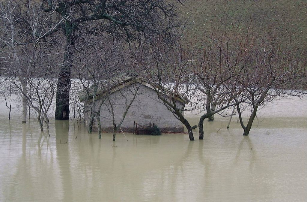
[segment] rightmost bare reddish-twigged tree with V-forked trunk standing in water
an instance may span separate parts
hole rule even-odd
[[[244,91],[235,98],[236,101],[244,100],[236,104],[243,135],[249,134],[261,106],[276,97],[303,95],[301,87],[306,80],[305,52],[282,46],[276,36],[268,33],[257,38],[255,43],[252,60],[238,78]],[[242,118],[244,105],[251,109],[247,125]]]

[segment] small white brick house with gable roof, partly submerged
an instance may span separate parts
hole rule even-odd
[[[106,86],[106,85],[105,85]],[[100,108],[101,129],[104,132],[113,131],[114,112],[115,123],[118,124],[132,102],[126,113],[126,117],[121,124],[124,132],[133,132],[136,124],[138,127],[144,125],[157,125],[162,132],[183,132],[184,125],[179,121],[157,96],[155,88],[142,77],[122,77],[112,82],[107,88],[98,89],[95,97],[95,111]],[[168,98],[174,96],[173,92],[163,89],[163,96]],[[80,101],[84,102],[84,119],[88,126],[91,117],[90,106],[93,103],[93,95],[85,93],[79,94]],[[176,105],[184,109],[186,99],[181,95],[175,96]],[[95,118],[93,128],[97,129]]]

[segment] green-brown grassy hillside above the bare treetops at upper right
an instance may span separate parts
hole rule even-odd
[[[307,0],[185,0],[177,12],[187,21],[187,39],[201,38],[203,29],[246,27],[270,30],[295,45],[307,42]]]

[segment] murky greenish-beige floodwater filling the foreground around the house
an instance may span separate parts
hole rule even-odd
[[[259,111],[249,137],[233,118],[187,134],[87,134],[70,121],[21,124],[0,105],[0,201],[307,201],[307,99]],[[192,125],[198,115],[188,114]],[[51,118],[52,119],[52,118]]]

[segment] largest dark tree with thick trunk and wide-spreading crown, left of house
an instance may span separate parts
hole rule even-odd
[[[125,1],[79,1],[79,0],[42,0],[45,12],[56,11],[55,19],[61,16],[68,20],[57,24],[49,34],[62,31],[66,37],[66,54],[58,79],[56,93],[56,115],[59,120],[69,117],[69,89],[71,85],[71,69],[74,59],[73,49],[81,27],[93,31],[97,27],[112,35],[133,41],[138,37],[151,38],[152,35],[165,33],[168,37],[172,32],[174,8],[164,0],[125,0]],[[95,21],[94,26],[88,22]],[[166,27],[166,28],[165,28]],[[91,32],[90,31],[90,32]],[[141,34],[142,33],[142,34]]]

